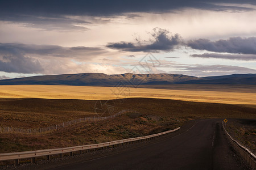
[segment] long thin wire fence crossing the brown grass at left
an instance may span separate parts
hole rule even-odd
[[[67,126],[79,124],[80,122],[89,122],[89,121],[101,121],[101,120],[108,120],[110,118],[117,117],[123,113],[128,113],[128,112],[136,112],[132,110],[122,110],[118,113],[115,113],[110,116],[106,117],[99,117],[99,116],[90,116],[90,117],[82,117],[82,118],[77,118],[75,120],[67,121],[67,122],[62,122],[57,125],[53,126],[48,126],[45,128],[35,128],[35,129],[23,129],[23,128],[14,128],[14,127],[0,127],[0,133],[9,133],[9,132],[16,132],[16,133],[45,133],[47,131],[52,131],[52,130],[57,130],[57,129],[62,129]]]

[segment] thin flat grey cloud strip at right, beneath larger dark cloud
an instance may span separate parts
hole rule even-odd
[[[204,53],[204,54],[192,54],[191,57],[200,58],[221,58],[221,59],[235,59],[235,60],[256,60],[255,54],[218,54],[218,53]]]

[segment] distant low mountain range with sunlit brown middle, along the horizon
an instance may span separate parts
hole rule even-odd
[[[116,86],[127,84],[256,84],[256,74],[232,74],[198,78],[182,74],[112,74],[84,73],[42,75],[26,78],[3,79],[0,85],[51,84],[72,86]]]

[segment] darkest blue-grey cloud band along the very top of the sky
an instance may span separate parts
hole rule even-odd
[[[230,3],[234,5],[217,5],[217,3]],[[24,14],[24,15],[120,15],[125,12],[166,12],[185,7],[200,8],[205,10],[251,10],[251,8],[240,7],[245,3],[240,0],[9,0],[1,1],[1,14]],[[246,1],[247,4],[256,5],[253,0]]]

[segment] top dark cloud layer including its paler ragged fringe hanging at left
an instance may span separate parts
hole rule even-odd
[[[233,3],[232,5],[217,5],[217,3]],[[253,8],[240,7],[243,1],[234,0],[9,0],[0,1],[0,20],[6,22],[19,22],[28,27],[48,30],[86,30],[88,28],[79,24],[90,24],[84,20],[72,19],[69,16],[120,16],[127,18],[138,17],[134,12],[175,12],[189,7],[213,11],[248,11]],[[256,5],[253,0],[247,4]]]

